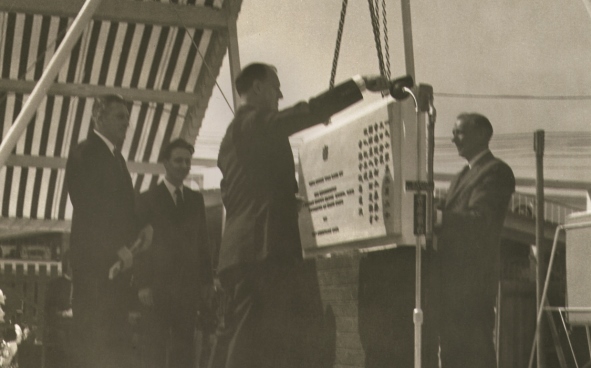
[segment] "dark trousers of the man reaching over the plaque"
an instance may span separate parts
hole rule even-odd
[[[225,313],[210,368],[326,365],[315,264],[266,261],[220,280]]]

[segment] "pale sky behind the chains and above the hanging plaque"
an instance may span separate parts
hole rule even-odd
[[[341,5],[243,1],[237,25],[241,65],[264,61],[277,67],[280,108],[328,88]],[[391,76],[397,77],[406,74],[400,1],[386,0],[386,12]],[[436,136],[450,136],[463,111],[488,116],[495,134],[591,130],[591,16],[584,0],[414,0],[411,14],[415,81],[434,88]],[[336,80],[378,73],[368,2],[349,0]],[[218,84],[197,143],[197,151],[212,154],[232,119],[223,97],[231,103],[227,60]]]

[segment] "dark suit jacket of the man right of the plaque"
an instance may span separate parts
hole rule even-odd
[[[513,171],[490,152],[453,180],[441,206],[441,282],[467,295],[496,292],[501,231],[514,191]]]

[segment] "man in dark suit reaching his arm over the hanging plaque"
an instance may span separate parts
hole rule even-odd
[[[227,300],[211,367],[313,367],[307,325],[309,270],[302,266],[297,183],[288,137],[327,121],[382,91],[381,77],[349,80],[309,102],[278,111],[283,97],[273,66],[255,63],[236,78],[244,104],[236,111],[218,156],[226,208],[218,274]],[[321,307],[319,308],[321,310]]]

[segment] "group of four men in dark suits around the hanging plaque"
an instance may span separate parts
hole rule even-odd
[[[66,167],[74,208],[70,366],[196,367],[195,329],[199,316],[214,315],[214,277],[223,292],[223,323],[209,367],[331,366],[319,328],[322,304],[312,292],[315,269],[302,259],[288,137],[327,122],[362,100],[365,90],[388,90],[390,82],[354,77],[284,110],[278,109],[283,95],[273,66],[250,64],[235,82],[242,105],[218,157],[226,218],[217,260],[203,195],[183,184],[193,145],[167,142],[160,157],[164,179],[138,197],[121,155],[127,102],[113,95],[95,99],[88,139],[70,152]],[[433,272],[445,295],[435,329],[443,368],[496,367],[499,237],[515,181],[488,149],[491,136],[492,125],[480,114],[461,114],[453,127],[453,142],[468,165],[439,207]],[[139,342],[129,322],[138,305],[146,326]]]

